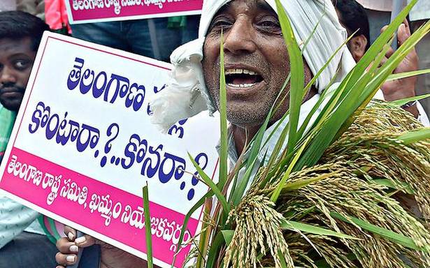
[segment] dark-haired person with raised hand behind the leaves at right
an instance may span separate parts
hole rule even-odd
[[[364,53],[366,53],[370,45],[370,42],[368,41],[370,36],[369,22],[366,10],[355,0],[337,0],[336,11],[341,24],[347,30],[348,36],[357,31],[357,33],[354,34],[347,43],[347,47],[350,50],[352,57],[354,57],[354,60],[359,61],[361,57],[364,56]],[[403,44],[409,36],[409,25],[408,22],[405,21],[398,31],[399,45]],[[387,52],[386,57],[389,58],[393,53],[394,50],[390,49],[389,52]],[[413,50],[408,54],[406,59],[399,64],[396,70],[394,70],[394,73],[403,73],[417,69],[418,57],[415,50]],[[402,80],[386,82],[381,87],[385,100],[394,101],[415,96],[416,81],[417,77],[409,77]],[[426,112],[420,103],[411,102],[404,105],[404,108],[405,110],[408,110],[408,112],[414,114],[415,117],[422,115],[422,117],[420,117],[422,123],[424,125],[429,125]]]

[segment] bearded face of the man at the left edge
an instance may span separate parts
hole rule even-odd
[[[31,38],[0,39],[0,103],[6,109],[20,109],[34,57]]]

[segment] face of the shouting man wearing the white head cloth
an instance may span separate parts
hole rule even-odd
[[[203,72],[220,105],[220,42],[224,36],[227,118],[239,126],[259,126],[289,74],[289,57],[278,15],[265,1],[235,0],[213,18],[203,47]],[[306,71],[310,75],[310,70]],[[285,89],[285,92],[288,88]],[[288,98],[275,114],[288,109]]]

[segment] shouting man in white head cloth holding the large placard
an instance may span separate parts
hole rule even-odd
[[[303,45],[313,31],[308,47],[303,50],[305,59],[305,83],[328,61],[331,55],[345,41],[347,33],[338,22],[338,17],[329,0],[282,0],[299,43]],[[289,74],[289,57],[282,37],[275,1],[262,0],[210,0],[203,3],[199,39],[187,43],[171,56],[173,81],[169,88],[159,93],[159,98],[151,103],[154,121],[164,130],[178,119],[192,117],[202,110],[215,112],[220,105],[220,43],[224,40],[224,63],[227,82],[227,119],[231,123],[233,141],[229,147],[229,158],[237,160],[245,145],[263,124],[275,102],[282,85]],[[354,66],[347,48],[336,54],[331,64],[317,79],[317,84],[306,94],[301,107],[301,117],[306,117],[320,93],[329,87],[334,78],[334,87]],[[340,68],[340,70],[339,70]],[[339,70],[339,71],[338,71]],[[288,110],[288,101],[271,120],[278,121]],[[282,131],[282,126],[278,131]],[[270,133],[271,130],[268,130]],[[277,132],[273,137],[278,136]],[[268,142],[268,155],[275,146]],[[262,150],[266,151],[266,150]],[[262,161],[262,156],[259,161]],[[258,164],[257,164],[258,165]],[[60,265],[70,265],[68,258],[76,260],[76,254],[69,250],[82,241],[73,242],[76,232],[67,229],[71,239],[58,241],[57,261]],[[84,241],[94,244],[94,239]],[[103,256],[102,256],[103,258]],[[118,263],[113,266],[120,268]]]

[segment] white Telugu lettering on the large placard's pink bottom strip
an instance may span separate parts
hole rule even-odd
[[[18,161],[18,157],[13,154],[6,168],[6,172],[16,179],[22,179],[26,183],[33,184],[34,187],[41,187],[48,191],[46,204],[52,205],[57,198],[63,198],[69,202],[79,204],[83,210],[99,213],[104,219],[103,223],[108,227],[111,221],[120,221],[122,224],[132,228],[142,230],[145,228],[145,218],[143,207],[132,207],[130,204],[123,204],[120,201],[113,201],[109,194],[92,193],[90,200],[89,188],[79,186],[71,178],[63,179],[62,174],[54,175],[44,172],[35,165]],[[89,203],[88,203],[89,201]],[[114,204],[115,203],[115,204]],[[153,237],[170,242],[170,251],[175,252],[178,246],[182,224],[176,223],[169,218],[150,218],[150,228]],[[189,231],[185,232],[185,241],[181,247],[185,248],[192,239]]]

